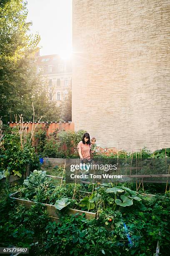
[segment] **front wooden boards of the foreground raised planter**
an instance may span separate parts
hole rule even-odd
[[[37,202],[33,202],[33,201],[25,200],[25,199],[20,199],[17,196],[18,196],[18,192],[15,192],[15,193],[10,195],[10,198],[16,200],[18,205],[25,205],[26,207],[30,208],[31,205],[37,204]],[[53,220],[58,222],[59,219],[60,219],[60,215],[57,214],[57,212],[56,212],[57,209],[55,208],[55,206],[54,205],[49,205],[49,204],[44,204],[44,203],[42,203],[42,205],[44,205],[46,207],[46,210],[47,210],[50,218],[52,218]],[[96,215],[93,212],[75,210],[75,209],[72,209],[72,208],[67,208],[66,213],[68,215],[74,215],[76,213],[78,213],[79,215],[82,215],[83,213],[85,213],[85,218],[88,219],[88,220],[94,219],[95,215]]]

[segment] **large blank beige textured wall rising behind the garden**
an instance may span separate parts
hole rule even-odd
[[[101,147],[170,147],[169,40],[169,0],[73,0],[75,130]]]

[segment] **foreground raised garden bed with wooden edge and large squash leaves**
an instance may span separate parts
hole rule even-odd
[[[50,225],[57,225],[59,233],[62,225],[63,231],[67,229],[70,218],[78,221],[84,217],[86,220],[82,223],[91,223],[94,232],[106,232],[113,242],[120,241],[121,246],[132,252],[141,252],[139,248],[145,251],[145,242],[148,245],[144,247],[152,247],[153,255],[156,247],[158,250],[159,243],[161,251],[164,246],[162,241],[166,246],[168,244],[166,236],[169,215],[166,209],[170,204],[169,197],[140,194],[128,187],[112,187],[111,184],[102,186],[60,183],[54,187],[45,171],[35,170],[25,179],[23,187],[10,195],[10,199],[16,201],[19,207],[27,207],[30,212],[35,208],[33,205],[38,208],[43,206],[43,214],[47,213],[52,221],[58,223],[53,222]],[[67,225],[65,221],[68,222]],[[163,250],[165,251],[164,248]]]

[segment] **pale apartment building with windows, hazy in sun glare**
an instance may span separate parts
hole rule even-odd
[[[37,56],[37,73],[40,73],[48,83],[50,100],[56,100],[60,105],[72,89],[71,60],[61,59],[57,54]]]

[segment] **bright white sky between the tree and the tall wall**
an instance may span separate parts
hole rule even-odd
[[[31,33],[38,32],[40,55],[72,51],[72,0],[27,0]]]

